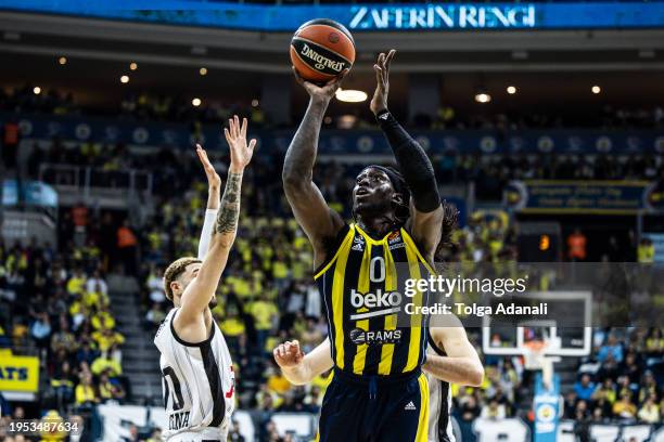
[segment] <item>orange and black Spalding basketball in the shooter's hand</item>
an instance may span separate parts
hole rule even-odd
[[[293,35],[291,62],[305,80],[323,83],[353,66],[355,41],[345,26],[332,20],[312,20]]]

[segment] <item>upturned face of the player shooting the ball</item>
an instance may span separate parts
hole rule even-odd
[[[394,187],[387,173],[367,168],[357,176],[353,187],[353,209],[360,216],[371,216],[392,210]]]

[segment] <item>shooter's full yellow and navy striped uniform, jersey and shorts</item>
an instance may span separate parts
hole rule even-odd
[[[433,273],[405,229],[381,239],[356,224],[340,232],[315,275],[334,361],[317,441],[426,442],[427,322],[406,306],[426,304],[429,294],[406,297],[405,288]]]

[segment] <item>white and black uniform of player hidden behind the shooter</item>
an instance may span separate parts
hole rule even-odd
[[[445,356],[445,351],[427,334],[426,353]],[[451,424],[451,390],[449,382],[426,373],[429,381],[429,442],[455,442]]]

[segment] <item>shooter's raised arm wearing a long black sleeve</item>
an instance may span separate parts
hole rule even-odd
[[[387,109],[390,64],[395,54],[394,49],[387,55],[381,53],[378,62],[373,65],[376,88],[370,108],[390,143],[404,181],[410,190],[411,216],[406,227],[421,247],[426,260],[433,262],[442,237],[445,210],[440,204],[438,185],[431,160],[422,146],[406,132]]]

